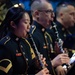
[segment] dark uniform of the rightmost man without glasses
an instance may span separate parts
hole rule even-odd
[[[73,43],[71,42],[72,39],[68,38],[68,36],[72,35],[72,33],[68,29],[64,28],[64,26],[58,21],[56,21],[56,28],[59,37],[62,39],[62,41],[64,41],[63,48],[68,49],[69,56],[71,57],[72,54],[75,53],[75,50],[71,49]]]

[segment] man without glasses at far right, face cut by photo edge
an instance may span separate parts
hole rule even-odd
[[[72,35],[69,31],[69,27],[73,27],[75,23],[75,9],[71,4],[62,3],[56,9],[56,25],[59,37],[63,40],[66,40],[68,35]],[[64,43],[65,44],[65,43]],[[64,47],[66,47],[64,45]],[[71,53],[71,51],[69,52]],[[71,57],[72,54],[69,54]]]

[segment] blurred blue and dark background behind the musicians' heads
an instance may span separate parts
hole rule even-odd
[[[10,7],[20,3],[27,11],[30,12],[30,6],[33,1],[34,0],[0,0],[0,24],[5,18],[5,14]],[[54,8],[54,12],[55,12],[56,6],[62,2],[71,3],[75,6],[74,0],[48,0],[48,1],[52,4]]]

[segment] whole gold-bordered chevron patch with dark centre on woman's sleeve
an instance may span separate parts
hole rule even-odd
[[[12,68],[12,63],[9,59],[2,59],[0,60],[0,70],[4,73],[8,73],[9,70]]]

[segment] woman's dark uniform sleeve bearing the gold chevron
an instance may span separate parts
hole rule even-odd
[[[5,48],[0,47],[0,75],[12,75],[11,54]]]

